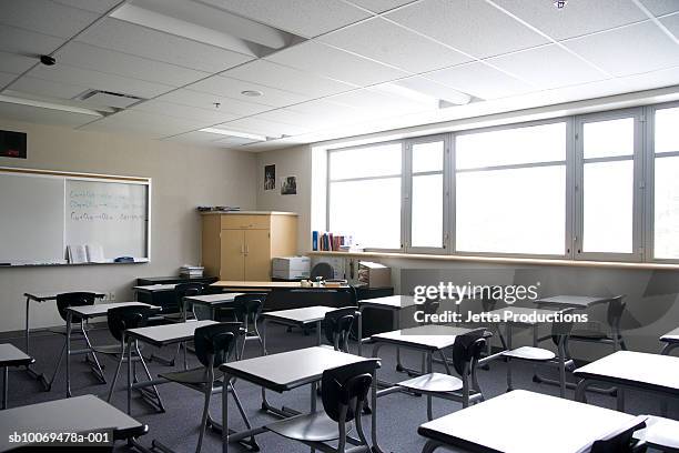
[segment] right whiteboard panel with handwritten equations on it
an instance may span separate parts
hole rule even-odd
[[[148,187],[67,180],[65,244],[97,244],[105,259],[146,256]]]

